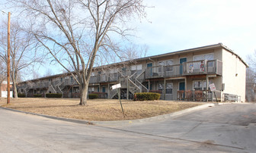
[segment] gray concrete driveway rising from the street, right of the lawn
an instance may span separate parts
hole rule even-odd
[[[229,104],[151,123],[130,123],[118,129],[171,139],[205,142],[240,151],[256,151],[256,104]]]

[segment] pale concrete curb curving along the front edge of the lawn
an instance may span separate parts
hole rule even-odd
[[[24,114],[32,114],[32,115],[37,115],[40,117],[46,117],[50,118],[53,120],[63,120],[63,121],[68,121],[72,123],[82,123],[82,124],[87,124],[87,125],[100,125],[100,126],[110,126],[110,125],[130,125],[131,123],[143,123],[143,122],[151,122],[151,121],[160,121],[160,120],[165,120],[171,117],[178,117],[181,114],[187,114],[190,113],[191,111],[199,111],[203,108],[208,108],[208,107],[213,107],[215,104],[210,103],[210,104],[205,104],[205,105],[199,105],[194,108],[187,108],[182,111],[177,111],[171,114],[163,114],[155,117],[148,117],[148,118],[143,118],[143,119],[137,119],[137,120],[114,120],[114,121],[88,121],[88,120],[78,120],[78,119],[72,119],[72,118],[65,118],[65,117],[53,117],[50,115],[45,115],[45,114],[36,114],[36,113],[30,113],[26,111],[19,111],[19,110],[14,110],[11,108],[4,108],[0,107],[2,109],[8,110],[8,111],[16,111],[19,113],[24,113]]]

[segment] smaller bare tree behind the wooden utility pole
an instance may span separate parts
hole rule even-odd
[[[7,27],[7,24],[2,22],[0,58],[5,61],[6,65],[7,33],[5,32],[5,27]],[[21,78],[19,76],[21,73],[19,72],[37,61],[35,58],[36,53],[30,52],[31,49],[34,49],[33,44],[32,37],[21,29],[18,21],[11,22],[11,81],[13,83],[14,98],[18,98],[17,83]]]

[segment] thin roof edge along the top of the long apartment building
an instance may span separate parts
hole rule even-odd
[[[136,58],[136,59],[133,59],[131,61],[135,61],[135,62],[136,61],[144,61],[144,60],[150,60],[152,58],[162,58],[162,57],[169,56],[169,55],[177,55],[177,54],[182,54],[182,53],[187,53],[187,52],[200,52],[202,50],[215,49],[215,48],[225,48],[226,51],[231,52],[232,55],[235,55],[237,58],[239,58],[240,61],[242,61],[245,64],[246,67],[248,67],[248,64],[246,64],[246,62],[239,55],[235,54],[235,52],[233,52],[230,48],[226,47],[226,45],[222,45],[222,43],[213,44],[213,45],[205,45],[205,46],[197,47],[197,48],[189,48],[189,49],[184,49],[184,50],[180,50],[180,51],[176,51],[176,52],[168,52],[168,53],[165,53],[165,54],[162,54],[162,55],[153,55],[153,56],[148,56],[148,57],[145,57],[145,58]],[[107,65],[103,65],[103,66],[100,66],[100,67],[94,67],[94,69],[101,68],[101,67],[106,67],[106,66],[111,67],[111,66],[123,64],[123,63],[126,63],[126,62],[129,62],[129,61],[122,61],[122,62],[117,62],[117,63],[114,63],[114,64],[107,64]],[[56,74],[56,75],[53,75],[53,76],[45,76],[45,77],[41,77],[41,78],[38,78],[38,79],[27,80],[27,81],[44,80],[44,79],[50,79],[50,78],[55,78],[55,77],[59,77],[59,76],[66,76],[66,75],[69,75],[69,73],[60,73],[60,74]],[[24,82],[27,82],[27,81],[24,81]],[[24,82],[21,82],[21,83],[24,83]]]

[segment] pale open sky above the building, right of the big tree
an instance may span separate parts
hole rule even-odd
[[[147,19],[136,42],[158,55],[222,42],[246,60],[256,49],[254,0],[146,0]]]

